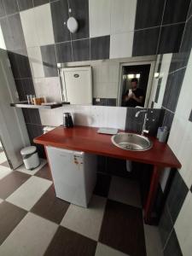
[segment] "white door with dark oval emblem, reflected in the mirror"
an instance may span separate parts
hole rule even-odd
[[[67,102],[78,105],[91,105],[91,67],[66,67],[62,68],[61,74]]]

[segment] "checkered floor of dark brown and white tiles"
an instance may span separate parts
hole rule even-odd
[[[32,172],[24,166],[11,171],[2,161],[0,255],[162,256],[162,251],[157,228],[143,224],[136,182],[98,174],[90,205],[83,208],[55,197],[45,161]]]

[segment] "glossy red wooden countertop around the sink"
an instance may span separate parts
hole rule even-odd
[[[159,143],[154,137],[149,137],[153,142],[152,148],[147,151],[136,152],[114,146],[111,142],[111,135],[98,134],[97,130],[98,128],[88,126],[75,126],[73,128],[59,126],[40,137],[36,137],[33,141],[44,146],[84,151],[160,167],[181,168],[181,164],[173,154],[172,149],[166,143]]]

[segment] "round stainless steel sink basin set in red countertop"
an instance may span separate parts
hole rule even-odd
[[[148,137],[136,133],[119,132],[113,135],[111,140],[115,146],[131,151],[145,151],[153,146]]]

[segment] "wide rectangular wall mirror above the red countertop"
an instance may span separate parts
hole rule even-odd
[[[62,101],[148,108],[155,63],[156,55],[58,63]]]

